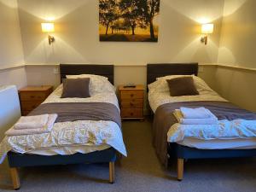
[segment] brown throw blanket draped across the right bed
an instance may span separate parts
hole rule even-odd
[[[156,109],[153,123],[153,144],[160,162],[167,165],[167,132],[172,125],[177,123],[173,111],[180,107],[185,108],[208,108],[215,114],[218,120],[228,119],[256,119],[256,113],[236,107],[230,102],[175,102],[166,103]]]

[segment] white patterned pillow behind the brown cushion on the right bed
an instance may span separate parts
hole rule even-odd
[[[207,83],[195,76],[195,75],[168,75],[165,77],[157,78],[156,81],[152,84],[148,84],[148,90],[151,92],[169,92],[169,86],[167,84],[166,79],[175,79],[175,78],[182,78],[182,77],[192,77],[194,79],[196,90],[200,93],[203,91],[212,91],[212,89],[207,85]]]

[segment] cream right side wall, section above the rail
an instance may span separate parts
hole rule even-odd
[[[255,0],[225,0],[218,63],[256,68],[255,9]]]

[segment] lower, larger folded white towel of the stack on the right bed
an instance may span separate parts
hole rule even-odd
[[[178,109],[175,110],[173,114],[177,121],[182,125],[216,125],[218,123],[218,119],[214,114],[212,114],[210,118],[205,119],[186,119],[183,117],[183,113]]]

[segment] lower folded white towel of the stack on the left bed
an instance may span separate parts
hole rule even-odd
[[[14,127],[12,127],[11,129],[9,129],[9,131],[5,132],[5,135],[6,136],[21,136],[21,135],[33,135],[33,134],[48,133],[52,130],[57,117],[58,117],[58,115],[55,113],[49,114],[47,124],[43,128],[16,130]]]

